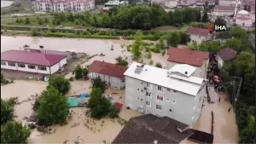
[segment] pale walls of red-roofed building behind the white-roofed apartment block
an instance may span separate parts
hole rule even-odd
[[[167,60],[167,69],[171,69],[172,66],[175,66],[180,63],[172,62]],[[199,78],[207,78],[207,67],[209,65],[209,60],[203,60],[202,66],[195,66],[196,70],[192,74],[192,76],[199,77]]]

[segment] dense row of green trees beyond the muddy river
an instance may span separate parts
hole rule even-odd
[[[43,21],[43,20],[42,20]],[[44,20],[45,21],[45,20]],[[46,20],[47,21],[47,20]],[[176,9],[166,12],[159,5],[124,6],[119,9],[110,9],[108,13],[101,14],[54,14],[53,24],[61,25],[62,22],[73,22],[75,25],[107,27],[115,29],[150,29],[157,26],[180,26],[192,21],[201,21],[198,9]]]

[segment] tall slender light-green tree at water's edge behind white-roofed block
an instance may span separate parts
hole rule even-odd
[[[142,33],[137,32],[135,36],[135,42],[131,45],[131,54],[133,56],[133,60],[139,60],[141,58],[141,45],[142,45]]]

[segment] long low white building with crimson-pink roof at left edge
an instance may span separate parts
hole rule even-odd
[[[40,50],[8,50],[1,53],[1,69],[40,74],[54,74],[67,64],[67,55],[53,55]]]

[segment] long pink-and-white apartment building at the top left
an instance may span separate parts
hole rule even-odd
[[[32,5],[36,11],[83,12],[95,9],[95,0],[35,0]]]

